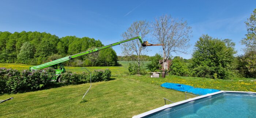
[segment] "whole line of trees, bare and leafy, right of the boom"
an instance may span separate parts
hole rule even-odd
[[[151,24],[151,25],[149,25]],[[194,52],[190,60],[183,60],[174,57],[169,73],[178,76],[207,77],[212,79],[231,79],[233,77],[256,77],[256,9],[245,22],[247,32],[241,44],[245,45],[244,54],[235,56],[235,43],[231,39],[218,39],[209,35],[202,35],[195,44]],[[159,71],[161,66],[158,61],[163,58],[172,57],[174,53],[186,53],[189,47],[188,41],[191,37],[191,27],[186,21],[172,18],[170,15],[162,15],[155,18],[155,21],[148,23],[146,20],[136,21],[123,33],[126,39],[130,35],[150,34],[153,42],[163,44],[163,56],[156,54],[150,58],[147,68],[150,71]],[[137,54],[136,58],[146,49],[140,46],[140,42],[130,42],[130,46],[123,47],[124,54]],[[144,50],[145,49],[145,50]],[[128,54],[127,54],[128,55]],[[145,71],[138,64],[129,64],[129,71],[133,74],[140,74]],[[136,71],[134,71],[136,70]]]

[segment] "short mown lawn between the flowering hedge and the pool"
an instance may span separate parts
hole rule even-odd
[[[178,102],[182,92],[120,77],[111,81],[69,85],[49,90],[2,95],[14,99],[0,104],[0,117],[132,117],[164,105],[163,97]],[[193,96],[189,96],[191,98]]]

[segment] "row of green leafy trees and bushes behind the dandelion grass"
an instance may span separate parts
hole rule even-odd
[[[245,53],[235,56],[235,43],[230,39],[218,39],[209,35],[202,35],[196,42],[191,59],[176,56],[172,58],[170,75],[206,77],[212,79],[232,79],[234,77],[256,77],[256,71],[251,67],[256,53]],[[151,57],[147,65],[150,71],[160,71],[159,60],[162,56],[156,54]]]

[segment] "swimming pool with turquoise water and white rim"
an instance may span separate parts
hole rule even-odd
[[[133,118],[256,118],[256,93],[219,91],[135,115]]]

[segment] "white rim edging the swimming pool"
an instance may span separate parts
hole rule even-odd
[[[205,98],[205,97],[208,97],[208,96],[211,96],[211,95],[216,95],[216,94],[221,94],[223,92],[233,92],[233,93],[252,93],[252,94],[256,94],[256,92],[246,92],[246,91],[218,91],[218,92],[214,92],[214,93],[211,93],[211,94],[206,94],[206,95],[201,95],[201,96],[197,96],[195,98],[190,98],[190,99],[187,99],[187,100],[182,100],[180,102],[175,102],[175,103],[172,103],[172,104],[166,104],[162,107],[158,107],[156,109],[153,109],[153,110],[150,110],[150,111],[147,111],[147,112],[144,112],[142,114],[139,114],[139,115],[134,115],[132,118],[141,118],[141,117],[144,117],[146,115],[149,115],[149,114],[153,114],[157,111],[160,111],[160,110],[163,110],[163,109],[166,109],[166,108],[169,108],[169,107],[173,107],[173,106],[177,106],[179,104],[183,104],[183,103],[187,103],[187,102],[190,102],[190,101],[193,101],[193,100],[196,100],[196,99],[201,99],[201,98]]]

